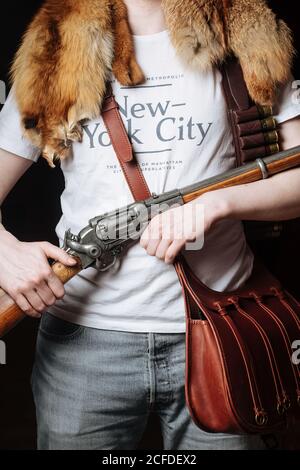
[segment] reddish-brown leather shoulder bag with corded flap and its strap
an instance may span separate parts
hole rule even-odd
[[[228,73],[235,80],[232,70],[236,73],[236,66],[226,68],[226,74],[223,71],[229,86]],[[264,118],[259,117],[262,111],[246,102],[240,109],[238,100],[226,97],[233,100],[227,102],[236,148],[239,114],[241,122],[250,123],[246,135],[256,135],[250,147],[246,140],[240,163],[253,145],[256,150],[250,153],[256,158],[270,153],[269,144],[261,145],[268,133]],[[111,89],[102,116],[134,199],[148,198],[150,191]],[[260,124],[252,126],[257,120]],[[300,376],[299,366],[292,363],[292,345],[300,339],[299,303],[258,260],[242,289],[224,293],[202,284],[183,256],[174,265],[186,305],[186,401],[197,426],[208,432],[265,434],[298,420]]]

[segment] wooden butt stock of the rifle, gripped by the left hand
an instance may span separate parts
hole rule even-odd
[[[70,267],[54,263],[52,269],[63,284],[81,271],[80,264]],[[24,312],[4,290],[0,289],[0,338],[12,330],[23,318],[25,318]]]

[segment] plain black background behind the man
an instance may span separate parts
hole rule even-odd
[[[9,65],[22,33],[41,3],[38,0],[1,3],[0,79],[6,83]],[[293,29],[296,48],[300,50],[296,2],[269,3]],[[294,76],[300,78],[297,59]],[[60,218],[59,197],[63,185],[58,168],[50,170],[44,161],[33,165],[4,203],[5,227],[24,241],[48,240],[56,243],[54,229]],[[300,297],[298,227],[297,222],[289,223],[280,240],[260,243],[258,249],[273,272],[294,295]],[[29,381],[36,331],[37,323],[27,319],[5,338],[7,366],[0,366],[0,449],[35,448],[35,416]],[[287,440],[287,446],[291,446],[291,439],[295,440],[295,435]],[[159,425],[156,417],[151,416],[140,447],[160,449],[160,446]]]

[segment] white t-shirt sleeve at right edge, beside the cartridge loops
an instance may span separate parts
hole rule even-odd
[[[278,124],[300,115],[299,91],[294,87],[294,83],[294,79],[291,78],[280,90],[276,106],[277,115],[275,116]]]

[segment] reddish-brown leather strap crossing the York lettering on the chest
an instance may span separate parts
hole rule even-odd
[[[151,193],[135,159],[132,144],[110,84],[102,106],[102,118],[134,200],[142,201],[149,198]]]

